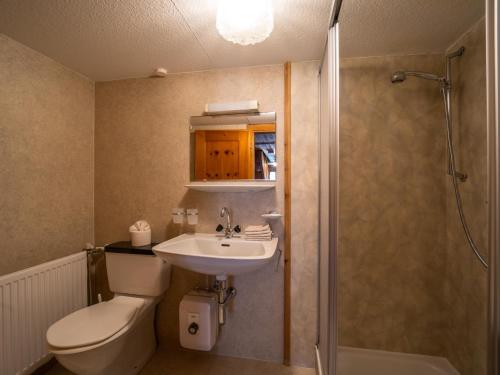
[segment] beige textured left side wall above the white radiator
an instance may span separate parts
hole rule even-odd
[[[94,84],[0,34],[0,275],[93,242]]]

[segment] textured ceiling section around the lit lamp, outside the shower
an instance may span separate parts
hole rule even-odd
[[[238,46],[217,0],[0,0],[0,32],[96,81],[319,59],[331,0],[273,0],[274,31]]]

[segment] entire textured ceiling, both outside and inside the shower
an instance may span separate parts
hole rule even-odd
[[[225,41],[217,0],[0,0],[0,32],[96,81],[320,59],[332,0],[273,0],[254,46]],[[443,52],[484,0],[343,0],[341,56]]]

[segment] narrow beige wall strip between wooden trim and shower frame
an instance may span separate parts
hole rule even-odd
[[[314,367],[318,267],[318,67],[292,64],[292,363]]]

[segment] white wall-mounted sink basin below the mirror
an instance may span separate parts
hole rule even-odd
[[[183,234],[153,247],[174,266],[207,275],[228,276],[257,270],[276,252],[278,239],[248,241],[214,234]]]

